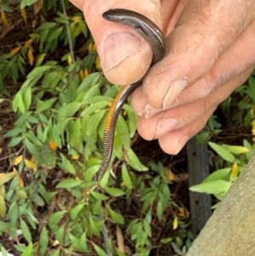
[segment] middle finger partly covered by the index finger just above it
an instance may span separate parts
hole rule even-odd
[[[212,89],[227,82],[230,77],[235,77],[255,65],[254,31],[255,20],[252,20],[252,23],[246,27],[235,42],[219,57],[210,71],[189,88],[185,88],[178,94],[170,107],[184,105],[201,99],[207,96]],[[244,48],[246,49],[245,51]],[[139,116],[150,118],[161,111],[151,107],[150,104],[147,103],[142,88],[139,88],[139,91],[133,94],[132,102],[134,111]]]

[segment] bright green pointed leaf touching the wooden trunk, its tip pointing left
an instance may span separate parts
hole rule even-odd
[[[229,191],[231,182],[222,179],[201,183],[199,185],[193,185],[190,187],[190,191],[207,193],[207,194],[222,194]]]

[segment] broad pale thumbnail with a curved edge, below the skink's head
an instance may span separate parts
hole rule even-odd
[[[138,37],[128,32],[116,32],[105,39],[103,65],[105,71],[118,65],[142,46]]]

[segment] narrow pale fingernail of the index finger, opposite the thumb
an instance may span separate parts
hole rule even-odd
[[[174,81],[171,83],[170,88],[166,96],[164,97],[161,107],[163,110],[167,109],[170,105],[172,105],[177,98],[178,94],[188,85],[187,79],[180,79],[178,81]]]

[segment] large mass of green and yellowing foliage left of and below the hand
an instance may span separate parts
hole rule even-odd
[[[65,16],[55,11],[61,8],[57,2],[40,3],[0,2],[7,27],[15,4],[29,6],[20,11],[25,23],[29,11],[47,18],[25,42],[0,55],[0,100],[14,115],[12,127],[3,134],[8,146],[1,158],[5,169],[0,174],[0,236],[13,239],[16,253],[24,256],[127,255],[123,232],[133,255],[149,255],[155,244],[170,242],[183,255],[191,242],[185,231],[188,213],[171,198],[166,168],[161,163],[144,166],[131,149],[136,118],[128,104],[116,125],[111,162],[117,164],[105,174],[102,189],[96,187],[105,113],[118,88],[100,72],[82,14]],[[86,39],[82,46],[81,38]],[[122,177],[115,179],[120,163]],[[150,174],[144,172],[148,169]],[[136,219],[129,219],[115,203],[132,201],[140,201]],[[121,228],[115,232],[116,227]],[[159,236],[160,227],[176,236]],[[0,247],[6,253],[1,242]]]

